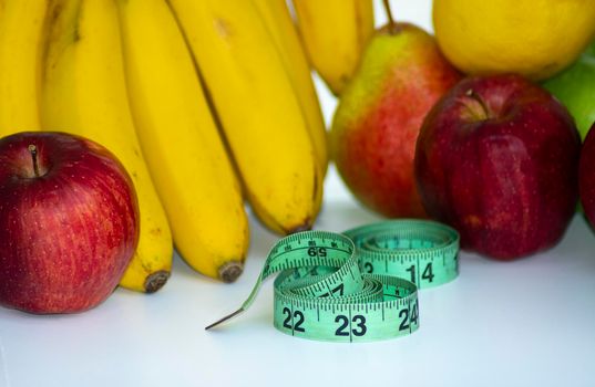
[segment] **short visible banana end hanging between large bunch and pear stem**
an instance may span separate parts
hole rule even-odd
[[[293,0],[311,65],[335,95],[356,72],[373,32],[372,0]]]

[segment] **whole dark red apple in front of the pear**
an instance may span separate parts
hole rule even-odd
[[[461,245],[512,260],[554,245],[578,195],[581,139],[567,109],[520,75],[469,77],[425,117],[416,180]]]

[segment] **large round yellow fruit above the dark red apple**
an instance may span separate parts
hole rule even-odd
[[[544,80],[570,65],[595,33],[593,0],[434,0],[444,55],[470,74]]]

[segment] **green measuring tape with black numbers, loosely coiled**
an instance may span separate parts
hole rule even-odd
[[[459,233],[429,220],[393,220],[343,233],[304,231],[270,250],[247,310],[265,279],[275,279],[275,327],[297,337],[370,342],[419,326],[418,287],[447,283],[459,273]]]

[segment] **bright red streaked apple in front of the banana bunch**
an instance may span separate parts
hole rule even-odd
[[[62,133],[0,139],[0,303],[31,313],[89,310],[115,289],[139,241],[124,167]]]

